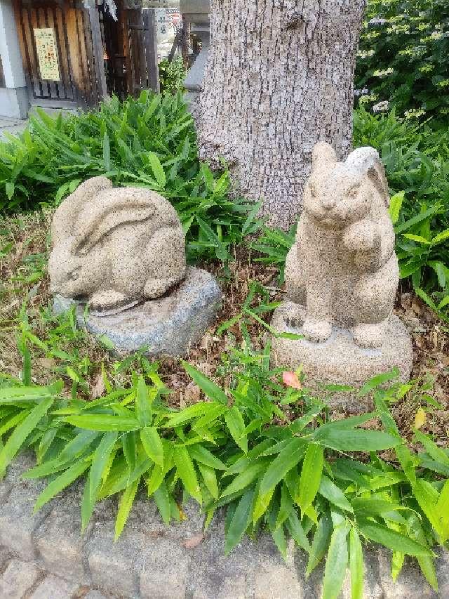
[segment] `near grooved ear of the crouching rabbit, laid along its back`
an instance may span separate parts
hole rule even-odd
[[[101,192],[85,206],[76,222],[74,251],[87,254],[102,237],[120,225],[138,223],[153,216],[153,192],[138,187]]]

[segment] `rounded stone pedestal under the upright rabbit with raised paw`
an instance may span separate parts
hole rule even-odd
[[[274,312],[272,327],[276,331],[302,334],[302,327],[288,327],[284,320],[286,305]],[[276,367],[295,370],[302,364],[307,376],[306,386],[323,397],[323,385],[335,383],[360,388],[363,383],[377,374],[397,367],[401,379],[408,381],[413,362],[410,337],[398,317],[391,315],[387,320],[384,341],[379,348],[365,349],[354,344],[346,329],[333,327],[327,341],[312,343],[300,340],[273,338],[272,363]],[[333,408],[361,413],[373,408],[371,397],[357,397],[354,392],[336,393],[330,400]]]

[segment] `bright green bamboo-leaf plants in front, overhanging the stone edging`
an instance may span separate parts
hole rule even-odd
[[[0,376],[0,473],[20,449],[34,449],[25,478],[48,478],[36,509],[84,480],[83,529],[95,503],[119,494],[119,537],[139,489],[167,524],[192,497],[206,526],[225,508],[226,553],[244,534],[267,530],[284,557],[289,537],[308,554],[307,575],[326,557],[324,598],[339,594],[347,567],[352,597],[363,595],[362,542],[370,541],[393,551],[394,577],[410,555],[437,588],[431,547],[449,537],[449,452],[417,429],[420,453],[401,438],[388,404],[412,385],[392,384],[394,372],[358,393],[374,391],[375,412],[332,421],[297,373],[269,369],[269,348],[257,355],[245,344],[223,357],[228,388],[184,363],[205,400],[177,410],[164,402],[157,364],[142,354],[114,366],[130,371],[128,385],[114,386],[102,369],[95,400],[82,400],[76,383],[70,399],[62,381],[34,386],[30,343],[36,338],[22,327],[23,381]]]

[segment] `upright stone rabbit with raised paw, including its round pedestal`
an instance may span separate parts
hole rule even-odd
[[[393,314],[399,271],[388,207],[373,147],[338,162],[330,145],[316,144],[286,260],[286,301],[272,319],[272,362],[301,367],[319,395],[323,384],[344,386],[332,403],[350,412],[368,407],[354,388],[393,368],[406,381],[412,367],[410,337]]]

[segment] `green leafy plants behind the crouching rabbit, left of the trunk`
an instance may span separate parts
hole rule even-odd
[[[229,176],[200,162],[182,96],[143,91],[67,119],[39,111],[19,138],[0,143],[0,210],[58,204],[81,181],[105,174],[115,185],[148,187],[175,206],[190,260],[230,258],[228,246],[253,226],[253,204],[229,199]]]

